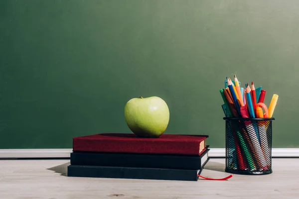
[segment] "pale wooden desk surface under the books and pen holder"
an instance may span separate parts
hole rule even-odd
[[[0,199],[296,199],[299,159],[273,159],[273,174],[227,181],[154,181],[66,177],[69,160],[0,160]],[[223,178],[224,159],[202,176]]]

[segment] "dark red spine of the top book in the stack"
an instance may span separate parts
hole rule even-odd
[[[199,155],[198,141],[147,142],[73,139],[73,151]]]

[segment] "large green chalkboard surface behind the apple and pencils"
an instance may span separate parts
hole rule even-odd
[[[273,147],[299,147],[298,0],[0,0],[0,148],[71,148],[129,133],[158,96],[165,133],[225,147],[219,89],[236,74],[279,95]],[[292,139],[291,139],[292,138]]]

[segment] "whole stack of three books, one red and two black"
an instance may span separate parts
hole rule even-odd
[[[197,181],[208,162],[207,135],[101,133],[73,138],[69,177]]]

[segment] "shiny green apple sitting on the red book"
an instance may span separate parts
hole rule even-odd
[[[125,118],[137,136],[159,137],[167,128],[169,109],[159,97],[133,98],[125,105]]]

